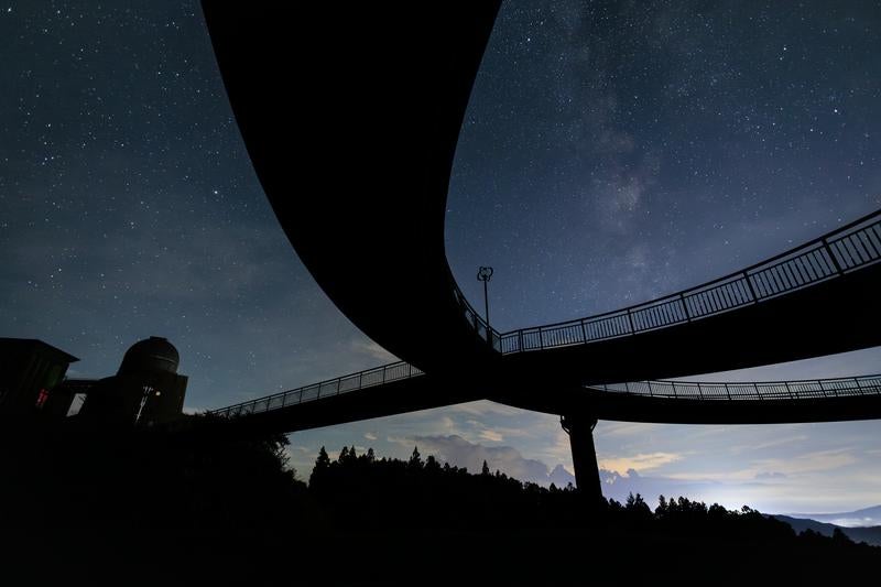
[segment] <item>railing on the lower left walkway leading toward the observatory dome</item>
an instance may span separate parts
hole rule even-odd
[[[423,372],[420,369],[407,362],[393,362],[382,367],[358,371],[357,373],[338,377],[336,379],[328,379],[319,383],[273,393],[272,395],[265,395],[227,407],[211,410],[208,413],[225,417],[259,414],[261,412],[269,412],[290,405],[330,398],[350,391],[382,385],[392,381],[410,379],[421,374],[423,374]]]

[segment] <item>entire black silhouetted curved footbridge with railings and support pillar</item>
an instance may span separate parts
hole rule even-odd
[[[356,326],[406,361],[214,414],[274,432],[483,399],[558,414],[578,486],[594,497],[598,418],[881,417],[877,376],[664,381],[881,345],[881,213],[660,300],[499,333],[463,295],[444,250],[453,156],[499,3],[203,8],[254,171],[294,250]],[[311,30],[292,35],[293,22]]]

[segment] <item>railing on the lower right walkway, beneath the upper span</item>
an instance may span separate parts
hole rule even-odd
[[[632,381],[588,385],[609,393],[682,400],[805,400],[881,394],[881,376],[757,383],[705,383],[694,381]]]

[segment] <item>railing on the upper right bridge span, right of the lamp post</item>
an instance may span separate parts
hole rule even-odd
[[[493,347],[508,355],[632,336],[759,304],[879,260],[881,210],[709,283],[614,312],[505,333]]]

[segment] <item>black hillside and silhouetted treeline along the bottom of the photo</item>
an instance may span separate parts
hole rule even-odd
[[[415,454],[319,457],[306,487],[283,437],[198,430],[7,431],[2,585],[825,585],[881,563],[748,508],[591,507]]]

